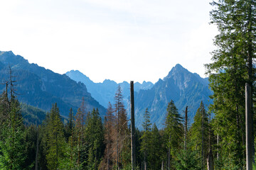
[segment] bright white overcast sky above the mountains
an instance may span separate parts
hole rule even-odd
[[[0,50],[92,81],[152,81],[181,64],[205,77],[218,33],[208,0],[0,0]]]

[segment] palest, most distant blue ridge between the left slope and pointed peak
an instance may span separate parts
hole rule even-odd
[[[127,98],[130,95],[130,85],[127,81],[117,84],[115,81],[105,79],[102,83],[94,83],[89,77],[85,76],[78,70],[71,70],[66,75],[77,82],[82,82],[87,87],[88,92],[95,98],[102,106],[107,108],[108,103],[114,103],[114,94],[117,91],[117,87],[121,86],[124,101],[127,103]],[[134,83],[134,91],[141,89],[151,89],[154,86],[151,82],[143,81],[142,84],[139,82]]]

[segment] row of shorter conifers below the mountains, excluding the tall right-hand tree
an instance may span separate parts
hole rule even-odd
[[[109,104],[104,120],[97,108],[87,111],[82,100],[75,114],[70,108],[68,120],[61,119],[54,103],[42,125],[28,125],[23,123],[21,106],[14,92],[4,91],[0,98],[0,168],[131,169],[131,135],[120,86],[114,98],[114,106]],[[206,157],[198,152],[201,148],[201,124],[198,121],[202,114],[206,114],[203,103],[196,115],[199,119],[195,119],[190,128],[191,134],[199,136],[188,137],[193,142],[188,142],[184,150],[183,119],[174,101],[167,107],[164,130],[151,125],[146,109],[143,130],[136,130],[137,169],[192,166],[201,169],[201,157]],[[204,126],[207,138],[208,126]],[[187,152],[190,162],[183,157]]]

